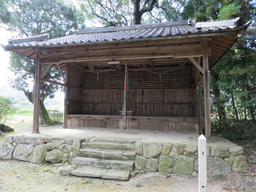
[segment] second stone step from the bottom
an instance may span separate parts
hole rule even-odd
[[[134,166],[134,161],[120,161],[113,159],[95,159],[87,157],[76,157],[72,160],[72,165],[93,165],[97,167],[111,168],[111,169],[127,169],[132,171]]]

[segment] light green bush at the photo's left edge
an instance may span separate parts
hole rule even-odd
[[[16,109],[12,106],[11,99],[0,96],[0,121],[5,121],[15,111]]]

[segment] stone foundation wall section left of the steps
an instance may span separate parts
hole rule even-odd
[[[0,159],[19,159],[32,163],[72,163],[82,146],[82,139],[44,136],[6,135],[0,149]]]

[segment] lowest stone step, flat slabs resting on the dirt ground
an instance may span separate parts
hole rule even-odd
[[[71,175],[81,177],[100,177],[105,179],[129,180],[130,171],[120,169],[101,169],[94,166],[83,166],[70,172]]]

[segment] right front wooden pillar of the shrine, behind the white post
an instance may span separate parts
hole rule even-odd
[[[207,140],[211,140],[211,108],[207,37],[203,37],[203,72],[205,135]]]

